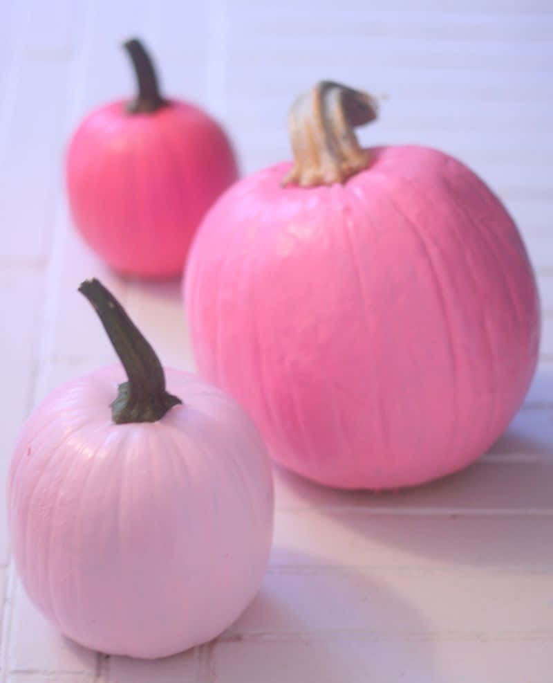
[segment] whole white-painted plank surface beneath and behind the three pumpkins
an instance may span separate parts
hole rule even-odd
[[[552,683],[552,0],[2,0],[1,489],[22,421],[113,358],[75,292],[96,275],[167,364],[190,367],[178,284],[123,282],[68,220],[62,152],[133,82],[144,37],[168,93],[205,105],[243,170],[288,158],[290,98],[333,78],[389,95],[366,143],[456,154],[516,217],[543,298],[541,365],[507,433],[465,473],[398,495],[326,491],[276,471],[259,597],[212,644],[160,662],[60,637],[21,591],[0,526],[1,681]]]

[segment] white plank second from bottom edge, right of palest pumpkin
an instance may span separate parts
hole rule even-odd
[[[378,639],[541,637],[553,643],[552,581],[551,568],[315,567],[296,573],[283,567],[268,573],[259,596],[226,635],[263,640],[287,632],[338,638],[349,632]]]

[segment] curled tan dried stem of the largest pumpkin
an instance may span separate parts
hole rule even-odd
[[[282,181],[302,187],[344,183],[368,166],[354,127],[377,117],[377,102],[368,93],[321,81],[292,104],[288,115],[294,167]]]

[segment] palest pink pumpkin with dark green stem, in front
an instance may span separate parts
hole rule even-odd
[[[235,401],[164,372],[97,280],[80,291],[128,380],[104,367],[26,422],[8,480],[13,556],[66,636],[104,653],[171,655],[216,637],[258,590],[272,540],[269,460]]]

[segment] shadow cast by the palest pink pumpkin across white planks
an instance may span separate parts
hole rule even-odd
[[[277,548],[276,554],[286,554]],[[214,641],[153,661],[111,657],[124,680],[344,683],[433,679],[431,627],[404,597],[359,570],[307,554],[269,567],[237,621]],[[380,675],[379,675],[380,674]]]

